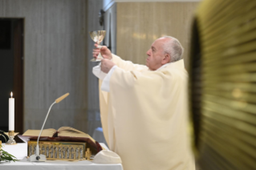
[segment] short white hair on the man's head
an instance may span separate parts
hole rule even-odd
[[[167,42],[165,42],[163,50],[164,53],[167,53],[171,56],[169,63],[173,63],[179,61],[182,58],[184,53],[184,48],[181,46],[181,42],[177,40],[177,38],[173,38],[171,36],[165,36],[162,38],[169,38]]]

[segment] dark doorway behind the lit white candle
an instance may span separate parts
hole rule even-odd
[[[14,130],[19,134],[23,133],[23,30],[23,18],[0,18],[0,130],[9,131],[9,98],[12,91],[15,100]],[[14,139],[21,142],[17,136]],[[2,136],[0,140],[6,142]]]

